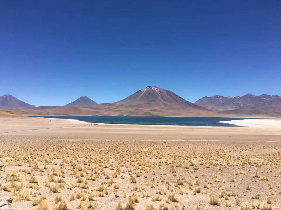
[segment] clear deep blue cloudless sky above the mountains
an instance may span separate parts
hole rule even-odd
[[[281,95],[281,1],[1,1],[0,95]]]

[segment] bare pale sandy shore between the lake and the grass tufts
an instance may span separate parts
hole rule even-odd
[[[244,120],[233,120],[236,125]],[[239,121],[239,122],[237,122]],[[246,120],[247,122],[248,120]],[[251,135],[281,134],[279,125],[280,120],[276,119],[249,119],[252,126],[249,127],[203,127],[203,126],[174,126],[174,125],[120,125],[102,124],[91,125],[91,123],[71,119],[54,118],[32,118],[32,117],[0,117],[0,134],[32,135],[32,136],[56,136],[65,132],[64,136],[77,138],[85,136],[103,139],[135,139],[135,140],[190,140],[190,139],[210,139],[218,140],[217,136],[225,138],[227,141],[232,136],[239,139],[248,139]],[[232,122],[232,121],[231,121]],[[259,127],[255,127],[253,122],[258,122]],[[262,122],[267,122],[261,127]],[[270,124],[270,123],[271,124]],[[230,123],[230,122],[227,122]],[[86,126],[84,126],[86,125]],[[241,124],[242,125],[242,124]],[[250,125],[250,123],[242,126]],[[231,137],[229,137],[231,136]],[[222,140],[222,139],[220,139]]]

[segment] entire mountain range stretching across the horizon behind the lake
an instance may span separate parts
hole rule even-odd
[[[19,115],[280,115],[281,97],[265,94],[241,97],[215,95],[191,103],[170,90],[147,86],[120,101],[105,104],[97,104],[83,96],[65,106],[35,107],[11,95],[4,95],[0,97],[0,108],[13,109],[13,113]]]

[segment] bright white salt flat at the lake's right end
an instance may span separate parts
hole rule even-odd
[[[233,124],[233,125],[245,126],[245,127],[267,127],[267,128],[281,129],[281,119],[245,119],[245,120],[230,120],[230,121],[221,121],[221,122]]]

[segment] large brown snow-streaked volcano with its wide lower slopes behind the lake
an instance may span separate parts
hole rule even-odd
[[[72,106],[41,106],[19,109],[13,113],[21,115],[217,115],[217,113],[214,113],[207,108],[186,101],[170,90],[165,90],[155,86],[148,86],[126,97],[125,99],[114,103],[97,104],[95,106],[81,106],[81,103],[78,104],[79,105],[75,105],[71,103]]]

